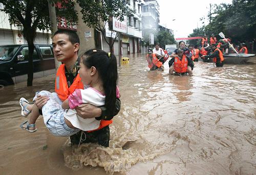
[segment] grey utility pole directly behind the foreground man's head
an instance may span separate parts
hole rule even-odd
[[[51,0],[48,0],[48,8],[49,8],[49,16],[50,16],[50,22],[51,22],[51,32],[52,32],[52,38],[53,38],[53,34],[58,29],[57,29],[57,17],[56,17],[55,6],[54,6],[54,2],[52,2]],[[61,62],[57,61],[57,59],[54,59],[54,62],[55,62],[55,69],[57,71]]]

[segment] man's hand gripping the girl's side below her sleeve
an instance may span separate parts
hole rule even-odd
[[[101,109],[88,103],[79,105],[75,110],[82,118],[95,118],[101,116]]]

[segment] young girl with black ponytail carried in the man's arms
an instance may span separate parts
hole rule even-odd
[[[76,89],[62,105],[48,91],[44,90],[36,94],[36,96],[47,95],[49,97],[47,103],[42,107],[42,116],[46,127],[55,136],[71,136],[80,130],[91,131],[99,127],[99,120],[82,118],[77,115],[74,108],[82,103],[90,103],[94,106],[105,105],[110,114],[115,109],[116,97],[119,97],[115,55],[107,54],[100,49],[91,49],[81,56],[78,73],[84,89]],[[23,105],[21,106],[23,108]],[[33,105],[32,113],[29,115],[29,121],[23,122],[20,127],[29,132],[35,132],[35,122],[39,116],[36,105]]]

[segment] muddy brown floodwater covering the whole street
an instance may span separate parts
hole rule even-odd
[[[256,62],[195,62],[192,77],[169,76],[167,62],[149,71],[136,56],[119,68],[109,148],[71,148],[41,116],[37,132],[19,128],[19,98],[53,91],[54,76],[0,89],[1,174],[256,174]]]

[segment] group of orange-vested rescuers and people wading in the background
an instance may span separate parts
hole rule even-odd
[[[193,75],[194,61],[198,61],[199,56],[205,62],[212,58],[212,62],[216,64],[216,67],[222,67],[224,64],[223,52],[224,49],[229,46],[230,39],[220,39],[217,42],[214,34],[210,37],[210,45],[207,43],[207,38],[202,37],[202,47],[199,49],[193,44],[186,47],[184,41],[179,42],[179,47],[168,56],[167,51],[162,49],[159,44],[155,45],[155,48],[147,49],[146,60],[148,62],[148,67],[150,70],[164,70],[164,62],[171,57],[169,60],[169,74],[188,74],[188,76]],[[241,44],[242,47],[239,53],[247,54],[248,49],[245,43]]]

